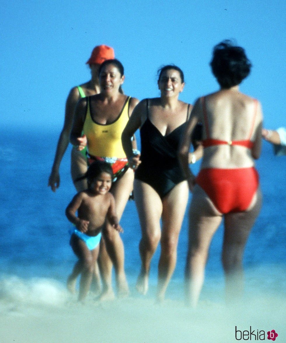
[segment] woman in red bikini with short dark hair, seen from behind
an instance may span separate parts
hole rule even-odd
[[[186,303],[196,306],[213,234],[224,217],[222,263],[226,300],[243,291],[242,258],[250,230],[261,208],[254,159],[261,151],[260,103],[239,91],[251,63],[243,48],[225,40],[211,61],[220,90],[199,98],[191,112],[179,157],[193,192],[185,273]],[[197,178],[188,167],[191,134],[203,123],[203,159]]]

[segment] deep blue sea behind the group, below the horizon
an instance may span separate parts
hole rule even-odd
[[[70,177],[70,149],[63,158],[61,184],[56,193],[47,187],[58,132],[11,132],[0,137],[1,242],[0,273],[23,279],[45,277],[65,283],[75,257],[69,246],[71,226],[64,211],[75,194]],[[257,292],[285,290],[286,260],[286,157],[275,157],[272,146],[263,142],[256,167],[263,192],[261,213],[252,229],[244,255],[249,287]],[[199,163],[195,166],[198,171]],[[190,195],[191,197],[191,195]],[[134,201],[129,201],[122,217],[125,269],[134,286],[140,269],[138,243],[140,226]],[[187,214],[178,244],[178,260],[167,297],[182,296],[182,280],[187,248]],[[222,226],[210,249],[205,287],[221,293]],[[152,261],[151,288],[157,282],[160,248]],[[203,294],[202,294],[203,296]]]

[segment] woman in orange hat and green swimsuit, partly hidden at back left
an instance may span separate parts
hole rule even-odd
[[[59,168],[63,155],[70,142],[70,133],[74,119],[75,106],[80,98],[100,93],[98,69],[102,62],[111,58],[114,58],[113,48],[107,45],[96,46],[92,50],[90,58],[86,62],[86,64],[89,64],[91,79],[86,83],[73,87],[66,99],[64,125],[58,141],[57,150],[55,152],[54,162],[48,182],[48,186],[51,187],[53,192],[55,192],[55,190],[60,186]],[[74,186],[78,192],[87,189],[87,181],[86,179],[78,182],[75,182],[74,180],[83,176],[86,171],[86,149],[84,149],[83,151],[78,151],[76,147],[73,146],[71,152],[71,174]],[[104,248],[101,248],[101,261],[105,265],[104,270],[109,270],[107,274],[111,275],[112,263]],[[103,277],[103,279],[105,279],[105,277]],[[106,276],[106,279],[110,280],[111,276]],[[111,282],[107,280],[105,280],[105,282]],[[95,292],[100,291],[100,275],[97,264],[95,267],[94,282],[92,285]]]

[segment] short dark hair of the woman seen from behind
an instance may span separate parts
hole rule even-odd
[[[223,40],[213,48],[210,65],[217,82],[223,88],[240,84],[249,75],[251,68],[244,48],[235,46],[231,40]]]

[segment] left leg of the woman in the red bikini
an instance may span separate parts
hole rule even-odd
[[[189,242],[185,271],[186,305],[197,305],[204,281],[209,246],[222,215],[207,194],[195,186],[189,211]]]

